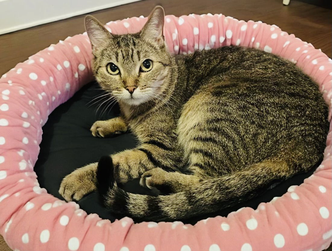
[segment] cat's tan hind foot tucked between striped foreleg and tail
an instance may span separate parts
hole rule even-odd
[[[153,168],[142,174],[139,184],[150,189],[157,188],[162,194],[179,193],[190,189],[201,181],[195,174],[167,172],[161,168]]]

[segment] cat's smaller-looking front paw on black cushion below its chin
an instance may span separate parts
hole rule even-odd
[[[94,137],[102,138],[125,133],[127,130],[128,127],[122,117],[116,117],[105,121],[96,121],[90,129]]]

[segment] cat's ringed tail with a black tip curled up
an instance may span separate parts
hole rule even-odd
[[[288,167],[281,161],[263,161],[237,173],[209,178],[187,191],[148,196],[120,189],[113,177],[111,157],[102,157],[97,169],[97,187],[105,206],[111,212],[152,221],[180,220],[216,212],[248,200],[273,180],[289,176]]]

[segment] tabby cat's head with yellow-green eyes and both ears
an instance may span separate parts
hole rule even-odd
[[[155,7],[139,33],[115,35],[92,16],[85,28],[95,56],[94,75],[100,86],[121,102],[138,105],[160,99],[169,82],[172,59],[163,35],[164,10]]]

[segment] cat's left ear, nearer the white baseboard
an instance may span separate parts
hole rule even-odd
[[[93,47],[101,46],[112,39],[112,34],[93,16],[85,17],[85,30]]]

